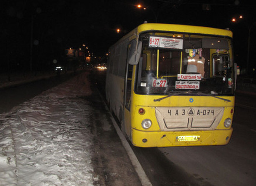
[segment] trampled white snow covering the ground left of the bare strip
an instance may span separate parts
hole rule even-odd
[[[90,186],[90,106],[83,73],[0,114],[1,186]]]

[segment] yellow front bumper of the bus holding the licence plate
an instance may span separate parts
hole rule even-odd
[[[208,131],[139,131],[131,129],[131,142],[139,147],[227,145],[233,128]]]

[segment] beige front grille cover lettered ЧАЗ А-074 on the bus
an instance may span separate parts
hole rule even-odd
[[[214,130],[224,107],[156,107],[161,131]]]

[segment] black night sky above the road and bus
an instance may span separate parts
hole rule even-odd
[[[139,3],[146,10],[138,9]],[[235,60],[241,67],[246,67],[250,27],[250,66],[256,67],[253,1],[4,0],[0,12],[1,72],[6,71],[7,62],[13,71],[29,69],[31,41],[37,70],[47,68],[53,59],[62,60],[64,49],[80,48],[83,44],[95,56],[102,57],[112,44],[144,21],[230,28],[234,33]],[[240,14],[243,19],[231,21]],[[120,33],[116,33],[117,28]]]

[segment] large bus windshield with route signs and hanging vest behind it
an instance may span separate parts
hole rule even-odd
[[[144,95],[234,95],[230,38],[143,33],[135,92]]]

